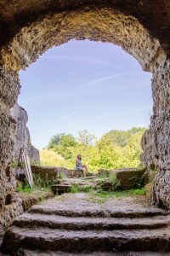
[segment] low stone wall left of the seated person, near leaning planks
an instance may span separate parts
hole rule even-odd
[[[46,178],[82,177],[83,174],[82,171],[55,166],[31,166],[31,170],[33,174],[39,174]]]

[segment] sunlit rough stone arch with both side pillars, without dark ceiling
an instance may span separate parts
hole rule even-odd
[[[9,108],[14,106],[19,94],[18,72],[36,61],[39,55],[42,55],[54,45],[59,46],[71,39],[89,39],[122,46],[127,53],[133,55],[139,61],[144,70],[153,73],[153,116],[150,130],[144,134],[142,160],[144,166],[154,166],[159,171],[155,182],[156,186],[153,189],[154,201],[158,202],[161,198],[163,204],[169,207],[167,195],[169,174],[165,172],[169,166],[168,154],[166,154],[169,152],[169,147],[168,140],[162,139],[162,136],[167,136],[169,129],[169,83],[167,82],[169,80],[169,60],[166,52],[164,52],[164,46],[166,45],[161,45],[157,33],[152,31],[153,27],[156,27],[157,30],[158,25],[154,22],[154,19],[151,19],[152,25],[144,25],[150,23],[144,21],[146,13],[148,19],[150,8],[144,9],[144,15],[141,16],[140,8],[145,4],[139,3],[136,9],[137,13],[129,11],[127,5],[124,8],[122,3],[120,6],[111,3],[110,7],[106,7],[106,5],[101,7],[97,4],[95,7],[90,5],[90,7],[84,8],[82,4],[80,8],[70,10],[66,9],[64,4],[62,11],[57,8],[58,11],[55,13],[56,9],[52,12],[48,12],[49,9],[47,9],[44,13],[38,13],[34,20],[30,19],[24,23],[19,22],[20,26],[16,26],[15,23],[16,30],[13,30],[12,26],[8,29],[7,33],[12,32],[8,37],[11,40],[3,45],[1,50],[3,64],[1,98],[4,108],[1,109],[3,121],[0,144],[1,149],[3,149],[1,155],[2,183],[4,182],[8,192],[15,189],[12,180],[10,184],[6,182],[5,168],[10,161],[14,148],[15,123],[14,119],[11,119]],[[113,8],[113,6],[119,10]],[[156,35],[156,38],[153,38],[153,35]],[[168,189],[165,189],[167,187]],[[7,191],[3,187],[1,191],[4,199]],[[5,214],[6,212],[3,211],[4,221]]]

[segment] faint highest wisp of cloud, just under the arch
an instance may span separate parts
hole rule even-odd
[[[97,65],[103,65],[103,66],[108,66],[108,67],[120,67],[117,64],[113,64],[110,61],[100,61],[97,59],[93,58],[88,58],[88,57],[76,57],[76,56],[59,56],[59,55],[48,55],[48,56],[42,56],[42,59],[47,59],[47,60],[64,60],[64,61],[81,61],[81,62],[87,62],[90,64],[97,64]]]

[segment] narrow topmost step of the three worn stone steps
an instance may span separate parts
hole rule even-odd
[[[55,205],[36,205],[31,207],[30,212],[40,214],[55,214],[68,217],[116,217],[116,218],[144,218],[153,217],[158,215],[166,216],[169,212],[165,212],[159,208],[148,207],[148,208],[116,208],[115,209],[104,209],[99,207],[67,207]]]

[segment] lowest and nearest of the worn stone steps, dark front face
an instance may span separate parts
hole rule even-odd
[[[8,253],[20,247],[69,253],[114,251],[170,251],[170,229],[158,230],[53,230],[48,228],[10,227],[2,248]],[[163,255],[163,253],[162,253]]]

